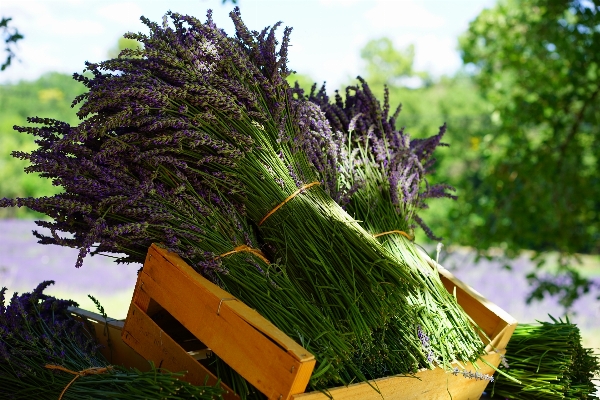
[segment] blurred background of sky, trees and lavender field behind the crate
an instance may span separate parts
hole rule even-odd
[[[214,20],[228,33],[239,6],[250,29],[292,26],[290,82],[344,93],[360,75],[413,137],[446,123],[432,183],[456,188],[421,214],[443,238],[440,263],[520,322],[548,314],[579,324],[600,347],[600,9],[552,0],[3,0],[0,32],[0,198],[57,187],[11,156],[31,151],[13,131],[30,116],[76,123],[73,81],[84,62],[137,43],[141,15],[172,10]],[[0,209],[0,287],[48,293],[93,310],[92,294],[124,318],[140,265],[36,243],[26,209]],[[417,242],[436,242],[417,232]],[[430,251],[435,258],[435,251]]]

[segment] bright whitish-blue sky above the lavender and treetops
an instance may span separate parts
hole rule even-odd
[[[362,70],[360,49],[383,36],[397,47],[416,46],[416,67],[434,75],[460,65],[457,37],[494,0],[239,0],[244,21],[261,29],[277,21],[292,26],[290,67],[337,87]],[[228,33],[231,2],[221,0],[2,0],[25,35],[21,60],[0,74],[0,83],[35,79],[47,71],[73,73],[84,61],[100,61],[127,31],[146,32],[140,15],[160,21],[167,10],[200,19],[208,8]]]

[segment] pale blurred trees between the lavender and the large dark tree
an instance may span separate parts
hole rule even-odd
[[[438,79],[417,71],[413,46],[398,49],[390,39],[380,38],[368,42],[361,56],[365,61],[362,76],[374,94],[383,100],[383,87],[387,85],[391,106],[402,106],[397,128],[405,128],[411,137],[425,138],[447,124],[444,142],[450,147],[436,152],[435,172],[429,180],[454,186],[458,200],[432,201],[430,208],[420,215],[436,236],[444,238],[445,244],[473,242],[471,227],[465,220],[470,218],[475,220],[470,223],[479,223],[483,218],[470,213],[471,199],[467,194],[472,186],[472,171],[479,171],[482,160],[494,156],[484,149],[493,126],[491,104],[482,98],[472,76],[465,71]],[[425,84],[408,86],[407,80],[415,77],[424,79]],[[354,80],[348,84],[356,83]],[[416,235],[420,243],[430,242],[420,230]]]

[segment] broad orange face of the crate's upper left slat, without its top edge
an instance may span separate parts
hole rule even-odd
[[[241,319],[230,307],[236,300],[222,301],[231,298],[227,292],[215,296],[157,257],[147,261],[140,277],[142,290],[269,398],[287,399],[291,388],[304,392],[310,375],[298,374],[302,363]]]

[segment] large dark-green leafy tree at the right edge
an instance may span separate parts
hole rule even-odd
[[[500,0],[460,47],[497,122],[497,157],[471,176],[471,212],[485,216],[472,244],[559,252],[569,279],[531,275],[533,297],[562,293],[569,305],[592,285],[572,256],[600,253],[600,6]]]

